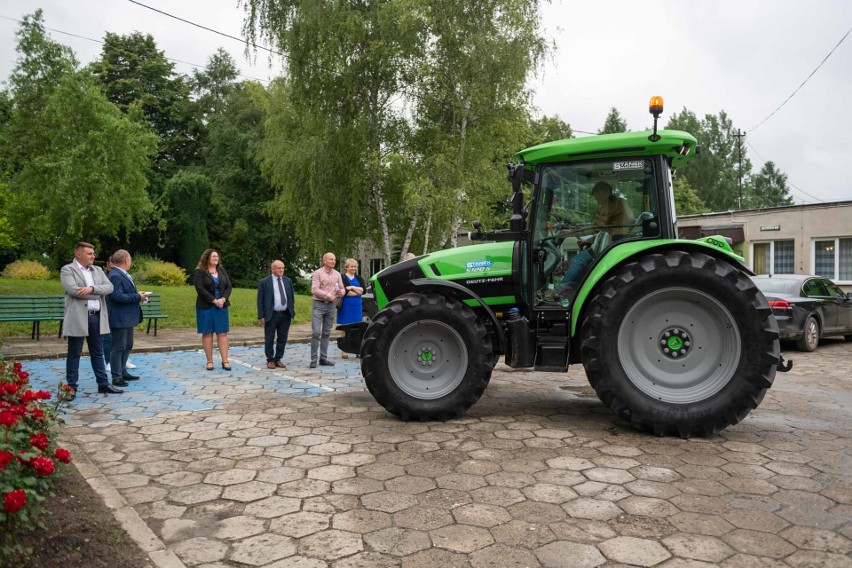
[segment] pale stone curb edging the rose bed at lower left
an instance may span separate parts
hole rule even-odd
[[[157,568],[186,568],[186,565],[177,555],[166,548],[166,544],[151,530],[148,524],[142,520],[139,513],[127,504],[124,497],[95,466],[71,437],[62,432],[63,445],[74,452],[74,467],[83,476],[83,479],[103,500],[104,504],[112,511],[113,516],[133,542],[145,553]]]

